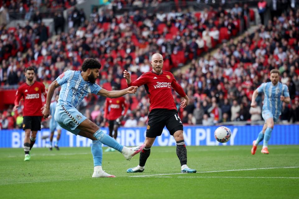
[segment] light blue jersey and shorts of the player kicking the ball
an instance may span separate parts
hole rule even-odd
[[[61,85],[58,103],[55,111],[55,121],[59,126],[78,135],[76,129],[80,123],[87,119],[76,107],[89,93],[97,94],[102,88],[89,81],[84,81],[80,71],[67,70],[57,77]]]

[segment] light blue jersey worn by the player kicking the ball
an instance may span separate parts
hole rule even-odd
[[[58,105],[65,107],[77,107],[82,99],[89,93],[97,94],[102,88],[89,81],[84,81],[81,71],[67,70],[57,77],[56,81],[61,85]]]

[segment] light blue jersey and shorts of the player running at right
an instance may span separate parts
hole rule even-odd
[[[279,115],[281,115],[282,109],[280,96],[290,96],[287,85],[278,82],[275,86],[273,86],[272,82],[267,82],[261,84],[257,90],[259,93],[264,93],[264,104],[262,109],[263,118],[266,120],[272,114],[273,119],[277,120]]]

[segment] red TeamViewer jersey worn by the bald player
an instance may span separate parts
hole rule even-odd
[[[143,73],[137,80],[131,81],[128,86],[142,86],[144,85],[147,95],[150,98],[150,111],[153,109],[175,109],[171,87],[181,96],[185,97],[186,93],[183,88],[174,79],[171,72],[162,71],[157,74],[154,71]]]

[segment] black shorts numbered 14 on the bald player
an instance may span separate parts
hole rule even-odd
[[[149,114],[149,121],[146,128],[146,137],[157,137],[162,134],[166,126],[170,135],[178,131],[183,131],[183,123],[178,116],[178,111],[168,109],[154,109]]]

